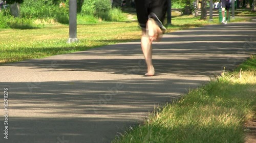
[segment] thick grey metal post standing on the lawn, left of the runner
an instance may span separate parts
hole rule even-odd
[[[67,43],[79,42],[77,39],[77,22],[76,22],[76,0],[69,1],[69,39]]]

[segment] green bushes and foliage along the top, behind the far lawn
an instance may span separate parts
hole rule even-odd
[[[33,19],[54,19],[60,23],[69,23],[69,0],[6,0],[9,9],[0,12],[0,28],[15,27],[18,23],[33,23]],[[219,1],[219,0],[214,0]],[[240,1],[240,0],[237,0]],[[256,10],[256,0],[243,0],[247,7]],[[113,7],[112,2],[121,4],[122,0],[77,0],[77,13],[84,20],[97,22],[124,21],[126,16],[119,7]],[[65,3],[66,7],[59,7]],[[206,19],[206,8],[209,0],[172,0],[172,8],[180,9],[182,14],[190,15],[201,3],[201,19]],[[129,7],[130,0],[126,0]],[[14,17],[16,18],[13,18]],[[197,16],[197,15],[196,15]]]

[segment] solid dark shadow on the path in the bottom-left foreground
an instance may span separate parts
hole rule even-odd
[[[105,118],[26,118],[10,117],[9,136],[6,143],[106,143],[118,132],[123,132],[135,122]]]

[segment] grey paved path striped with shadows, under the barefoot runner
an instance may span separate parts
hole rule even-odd
[[[256,19],[166,34],[153,47],[153,77],[143,76],[139,41],[1,65],[9,114],[8,140],[0,117],[0,142],[110,142],[154,106],[236,67],[255,41]]]

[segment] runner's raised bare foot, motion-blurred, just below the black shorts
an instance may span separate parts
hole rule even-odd
[[[156,24],[155,20],[153,18],[149,18],[147,20],[147,35],[151,42],[153,41],[159,41],[161,38],[161,35],[163,34],[160,27]]]

